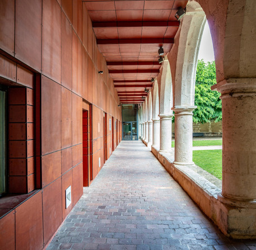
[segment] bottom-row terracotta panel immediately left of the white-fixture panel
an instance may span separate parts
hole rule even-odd
[[[43,189],[43,213],[44,244],[46,244],[62,223],[61,178]]]

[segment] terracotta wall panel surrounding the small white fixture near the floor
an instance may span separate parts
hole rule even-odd
[[[73,202],[71,202],[71,204],[66,209],[65,190],[69,186],[71,186],[71,197],[72,197],[72,193],[73,193],[72,170],[68,171],[67,173],[63,174],[63,176],[62,176],[62,220],[64,220],[66,218],[66,216],[69,214],[69,212],[73,208]]]

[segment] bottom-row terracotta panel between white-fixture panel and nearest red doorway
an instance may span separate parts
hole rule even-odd
[[[72,169],[73,180],[73,205],[77,203],[83,194],[83,164],[80,163]]]

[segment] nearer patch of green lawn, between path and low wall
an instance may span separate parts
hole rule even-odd
[[[195,150],[193,162],[218,179],[222,179],[222,150]]]

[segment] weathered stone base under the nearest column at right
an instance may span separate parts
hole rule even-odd
[[[256,239],[256,200],[231,200],[218,194],[214,216],[216,224],[234,239]]]

